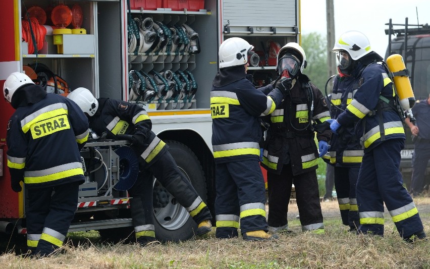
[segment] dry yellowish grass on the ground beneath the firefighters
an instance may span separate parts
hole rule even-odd
[[[415,198],[430,233],[430,198]],[[91,242],[66,245],[65,253],[43,259],[4,254],[1,268],[430,268],[430,242],[404,243],[389,217],[385,237],[355,235],[341,225],[336,201],[323,202],[326,234],[300,232],[297,206],[290,204],[290,228],[270,242],[206,239],[140,247]]]

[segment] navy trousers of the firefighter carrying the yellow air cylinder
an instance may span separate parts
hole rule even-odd
[[[358,232],[384,235],[384,203],[403,238],[423,230],[415,204],[403,187],[400,151],[404,139],[389,139],[365,152],[357,181]]]

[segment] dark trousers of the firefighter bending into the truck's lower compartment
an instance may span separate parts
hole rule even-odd
[[[131,208],[134,207],[131,212],[136,238],[138,240],[139,237],[142,236],[145,239],[142,238],[140,240],[153,240],[155,237],[152,216],[149,215],[153,214],[153,212],[149,212],[152,210],[153,206],[152,200],[148,198],[152,197],[152,195],[150,195],[150,193],[148,195],[148,190],[144,190],[144,186],[146,185],[144,183],[145,181],[152,179],[151,175],[153,175],[169,192],[156,192],[157,195],[159,195],[159,197],[154,197],[154,200],[159,203],[155,205],[156,207],[164,207],[167,203],[175,202],[175,200],[172,199],[175,197],[176,201],[185,207],[197,224],[204,220],[212,219],[209,208],[203,202],[191,182],[179,171],[179,168],[169,151],[166,150],[165,153],[157,158],[156,162],[147,167],[146,171],[139,175],[140,177],[135,183],[136,186],[133,186],[130,189],[134,197],[138,197],[136,200],[133,198],[130,204]],[[145,192],[146,194],[144,194]],[[143,209],[143,207],[145,209]],[[149,211],[148,208],[150,208]]]

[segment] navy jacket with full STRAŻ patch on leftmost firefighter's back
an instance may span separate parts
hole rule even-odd
[[[6,138],[11,181],[28,189],[83,182],[79,149],[89,130],[79,106],[34,84],[18,89],[12,105]]]

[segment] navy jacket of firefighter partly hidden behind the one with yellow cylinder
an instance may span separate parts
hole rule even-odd
[[[336,76],[333,85],[330,114],[332,119],[346,110],[352,102],[358,89],[357,80],[352,76]],[[338,133],[333,134],[330,140],[330,151],[323,159],[332,165],[339,167],[360,167],[363,159],[363,146],[355,135],[355,122],[353,125],[342,126]]]

